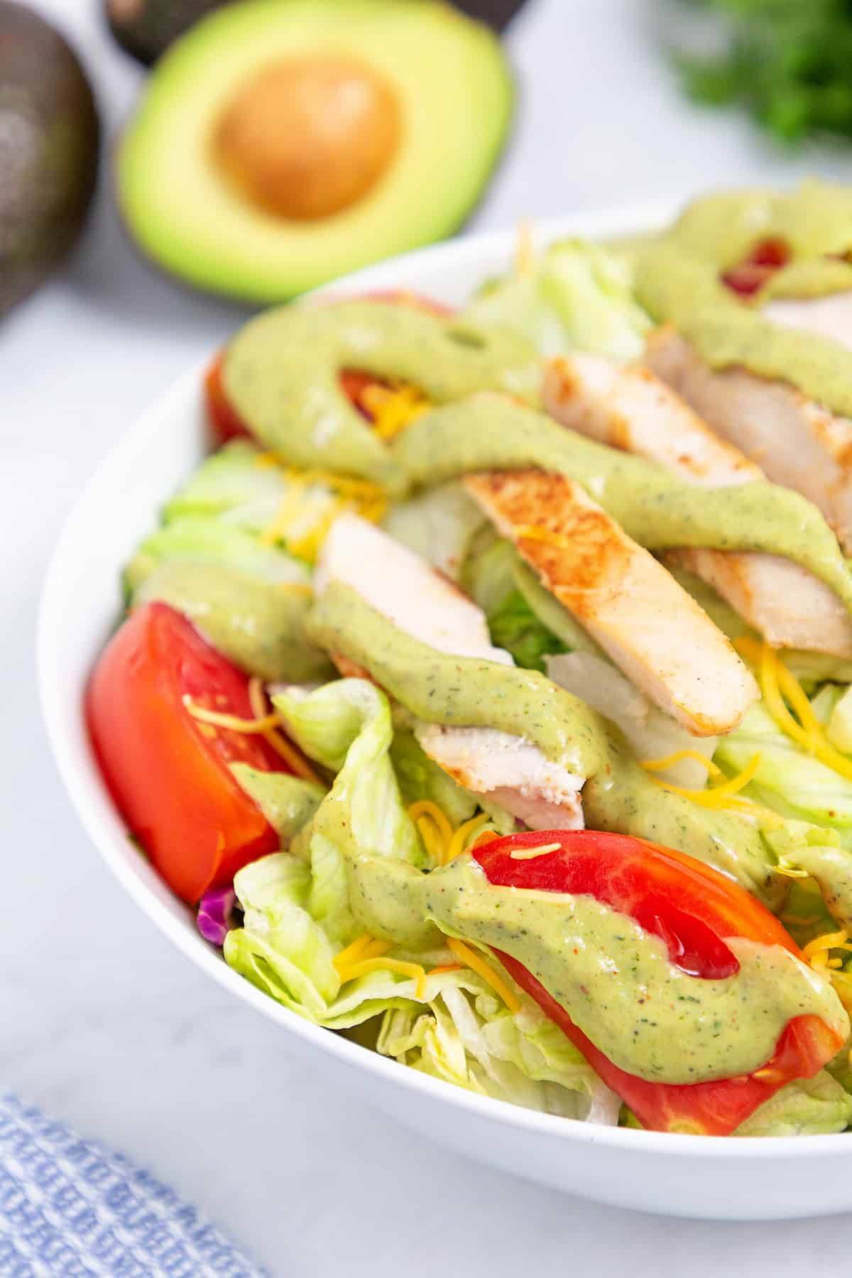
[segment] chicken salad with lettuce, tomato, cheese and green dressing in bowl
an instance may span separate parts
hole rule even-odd
[[[852,1125],[852,190],[252,320],[87,689],[224,961],[566,1118]]]

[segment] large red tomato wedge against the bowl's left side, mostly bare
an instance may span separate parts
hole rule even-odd
[[[165,603],[134,608],[89,680],[86,718],[101,772],[155,869],[184,901],[224,887],[278,837],[229,763],[286,772],[263,737],[194,718],[184,698],[253,718],[248,679]]]

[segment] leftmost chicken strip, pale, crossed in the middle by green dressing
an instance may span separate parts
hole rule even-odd
[[[341,515],[326,538],[314,574],[351,587],[406,634],[439,652],[513,665],[492,647],[482,608],[425,560],[358,515]],[[337,659],[342,674],[360,674]],[[488,795],[533,829],[582,829],[585,777],[544,757],[536,745],[497,728],[419,723],[420,745],[468,790]]]

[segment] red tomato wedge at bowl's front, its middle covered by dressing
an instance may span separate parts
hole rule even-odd
[[[529,860],[511,855],[547,843],[559,849]],[[694,976],[723,979],[738,970],[724,944],[729,937],[783,946],[801,957],[778,919],[736,883],[683,852],[641,838],[551,829],[493,840],[474,849],[473,856],[494,886],[594,896],[660,937],[671,961]],[[522,964],[502,951],[494,953],[643,1126],[654,1131],[729,1135],[786,1082],[812,1077],[843,1045],[837,1029],[819,1016],[797,1016],[782,1031],[772,1059],[750,1075],[649,1082],[607,1059]]]

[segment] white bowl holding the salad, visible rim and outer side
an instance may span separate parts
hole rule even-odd
[[[622,235],[653,229],[674,204],[580,215],[538,229]],[[461,303],[510,261],[515,233],[422,249],[336,281],[335,294],[406,288]],[[162,501],[201,460],[202,369],[193,368],[112,449],[72,511],[45,584],[38,671],[50,741],[79,817],[118,879],[193,962],[281,1025],[290,1048],[330,1081],[425,1136],[496,1167],[600,1203],[731,1220],[824,1215],[852,1208],[852,1136],[775,1140],[677,1136],[586,1126],[533,1113],[406,1070],[317,1029],[239,976],[128,840],[83,727],[83,689],[119,607],[119,570]]]

